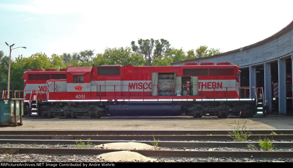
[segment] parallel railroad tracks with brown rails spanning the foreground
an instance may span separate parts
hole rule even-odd
[[[228,137],[232,130],[85,130],[85,131],[1,131],[0,144],[67,144],[74,145],[90,139],[93,146],[115,142],[139,142],[151,145],[159,140],[160,150],[136,150],[147,157],[233,157],[233,158],[293,158],[293,130],[249,130],[252,135],[249,142],[233,142]],[[276,133],[277,135],[270,135]],[[259,150],[259,139],[269,138],[273,142],[273,151]],[[282,140],[282,141],[281,141]],[[255,146],[249,150],[248,144]],[[3,145],[2,145],[3,146]],[[76,148],[38,148],[2,147],[0,153],[46,154],[46,155],[99,155],[123,149],[76,149]],[[35,146],[35,147],[33,147]],[[223,150],[229,148],[229,150]]]

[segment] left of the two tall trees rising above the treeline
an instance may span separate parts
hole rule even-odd
[[[154,49],[154,39],[147,39],[147,40],[142,40],[139,39],[137,41],[138,45],[137,46],[135,44],[135,41],[131,42],[131,46],[132,46],[132,51],[134,52],[138,52],[139,54],[144,56],[144,59],[146,60],[146,65],[150,66],[151,65],[151,61],[152,61],[152,53],[153,53],[153,49]]]

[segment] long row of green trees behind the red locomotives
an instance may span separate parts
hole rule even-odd
[[[104,53],[96,54],[95,50],[84,50],[74,53],[52,54],[37,52],[29,57],[20,55],[11,60],[10,90],[23,90],[24,71],[30,69],[64,69],[67,66],[100,66],[120,64],[125,66],[170,66],[172,62],[195,59],[221,53],[219,49],[208,49],[200,46],[184,52],[183,49],[171,47],[168,40],[139,39],[137,44],[131,42],[131,47],[106,48]],[[0,51],[0,90],[7,89],[9,56]]]

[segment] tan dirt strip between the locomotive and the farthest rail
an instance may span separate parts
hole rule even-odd
[[[19,122],[19,121],[18,121]],[[231,130],[244,124],[247,129],[293,129],[292,116],[239,117],[101,117],[52,118],[24,117],[23,125],[17,127],[0,126],[1,130]]]

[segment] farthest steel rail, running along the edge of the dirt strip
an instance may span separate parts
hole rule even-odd
[[[227,135],[234,130],[1,130],[0,135]],[[252,134],[293,134],[293,130],[246,130]]]

